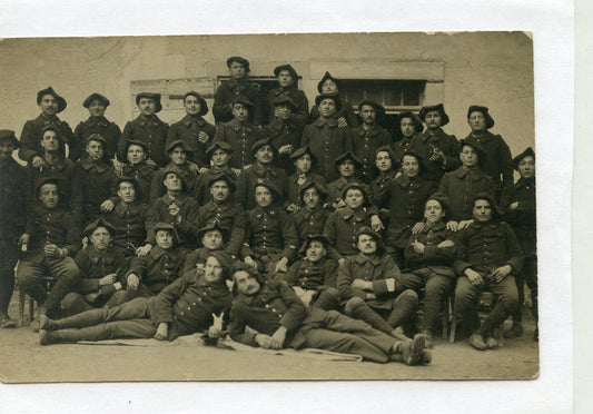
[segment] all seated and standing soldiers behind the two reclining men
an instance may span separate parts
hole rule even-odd
[[[443,105],[423,108],[419,117],[403,114],[404,138],[393,144],[376,125],[382,107],[375,102],[362,102],[362,126],[348,127],[355,122],[347,114],[352,106],[340,101],[327,73],[315,99],[316,120],[305,126],[294,99],[304,95],[286,82],[296,73],[284,66],[276,70],[280,88],[270,92],[274,121],[259,128],[249,122],[256,99],[244,93],[248,63],[230,58],[228,66],[233,79],[219,88],[214,110],[233,120],[217,128],[201,118],[208,108],[196,92],[185,97],[187,117],[168,131],[155,115],[160,96],[140,93],[140,116],[118,141],[108,134],[117,126],[102,117],[109,101],[93,93],[85,101],[91,117],[75,134],[86,154],[77,156],[76,139],[56,117],[66,101],[48,88],[38,93],[42,115],[26,124],[20,141],[1,131],[2,325],[12,324],[6,309],[18,244],[17,274],[42,314],[117,308],[137,296],[158,296],[182,274],[204,278],[209,254],[224,250],[268,284],[296,286],[303,303],[339,309],[395,337],[403,327],[414,334],[413,289],[426,285],[423,333],[407,348],[418,355],[425,339],[432,343],[441,303],[455,284],[474,347],[494,347],[492,328],[512,313],[510,336],[521,334],[525,277],[536,309],[535,155],[530,148],[512,160],[504,140],[488,131],[494,120],[487,108],[470,108],[472,134],[461,142],[441,128],[448,122]],[[334,91],[324,93],[326,85]],[[31,140],[36,122],[42,126]],[[85,132],[85,125],[99,129]],[[80,158],[76,164],[65,157],[67,144],[69,157]],[[27,172],[11,159],[19,146]],[[513,162],[522,177],[514,186]],[[498,199],[521,245],[498,220]],[[80,250],[78,228],[85,226],[89,245]],[[49,295],[40,284],[47,272],[57,277]],[[486,288],[498,300],[477,327],[473,304]],[[245,324],[254,327],[253,321]],[[413,359],[427,358],[418,355]]]

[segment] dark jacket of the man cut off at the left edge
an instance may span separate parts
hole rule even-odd
[[[17,241],[24,230],[27,170],[13,158],[0,162],[0,240]]]

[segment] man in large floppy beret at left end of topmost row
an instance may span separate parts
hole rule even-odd
[[[72,129],[68,122],[60,120],[57,117],[62,110],[66,109],[66,99],[59,96],[52,87],[37,92],[37,106],[41,110],[41,115],[36,119],[24,122],[21,132],[21,147],[19,148],[19,158],[29,162],[34,168],[39,168],[43,165],[43,158],[41,156],[42,149],[39,144],[41,139],[41,129],[43,127],[53,126],[69,147],[68,158],[77,160],[80,157],[82,148],[75,138]]]

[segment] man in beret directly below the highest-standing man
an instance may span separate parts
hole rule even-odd
[[[217,126],[214,142],[230,145],[233,148],[230,167],[240,170],[254,161],[251,148],[261,139],[263,134],[249,120],[249,114],[254,109],[254,103],[249,99],[238,96],[233,99],[230,108],[233,119]]]

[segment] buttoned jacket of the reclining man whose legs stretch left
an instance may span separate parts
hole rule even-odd
[[[168,323],[168,339],[207,329],[204,314],[229,314],[233,295],[224,282],[213,283],[197,273],[189,272],[165,287],[149,300],[150,319],[156,324]]]

